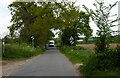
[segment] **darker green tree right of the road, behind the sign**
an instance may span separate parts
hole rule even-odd
[[[62,30],[62,42],[63,45],[71,45],[70,44],[70,37],[72,36],[74,38],[73,42],[75,45],[78,40],[79,35],[85,36],[85,41],[88,40],[88,38],[92,34],[92,29],[89,26],[89,15],[85,14],[85,12],[81,11],[78,15],[76,15],[77,19],[74,19],[74,25],[70,27],[66,27]]]

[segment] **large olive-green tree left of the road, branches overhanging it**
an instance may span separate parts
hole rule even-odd
[[[35,41],[44,45],[52,36],[49,34],[50,29],[64,28],[68,26],[67,23],[71,25],[67,15],[63,15],[71,10],[67,7],[73,8],[70,2],[13,2],[8,7],[13,22],[12,26],[9,26],[10,34],[13,36],[14,32],[19,30],[24,41],[30,42],[31,35],[34,35]]]

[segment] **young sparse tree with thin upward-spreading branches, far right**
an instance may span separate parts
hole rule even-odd
[[[114,32],[111,30],[111,27],[117,26],[113,25],[113,23],[119,20],[119,18],[116,18],[115,20],[109,19],[110,17],[116,16],[116,14],[110,16],[110,11],[117,2],[110,4],[109,6],[105,6],[103,1],[99,2],[96,0],[96,2],[97,3],[93,4],[96,7],[96,10],[88,9],[85,5],[83,5],[83,7],[99,28],[99,30],[97,30],[98,38],[95,40],[96,53],[104,53],[109,49],[110,36],[111,33]]]

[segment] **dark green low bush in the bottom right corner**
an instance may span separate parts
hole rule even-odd
[[[89,56],[88,60],[84,62],[84,65],[79,67],[79,70],[85,76],[111,75],[109,71],[113,73],[112,75],[119,75],[118,72],[120,71],[116,70],[120,69],[119,62],[118,52],[116,50],[109,49],[106,53]],[[117,74],[115,71],[117,71]]]

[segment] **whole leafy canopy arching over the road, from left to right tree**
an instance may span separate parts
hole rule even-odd
[[[8,8],[13,23],[9,26],[10,35],[15,36],[15,32],[19,32],[20,38],[28,43],[34,35],[36,45],[45,45],[53,36],[51,29],[62,31],[75,27],[86,38],[92,33],[88,15],[80,12],[75,2],[13,2]]]

